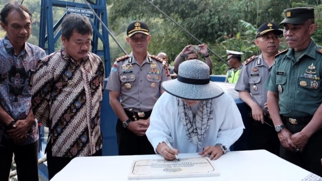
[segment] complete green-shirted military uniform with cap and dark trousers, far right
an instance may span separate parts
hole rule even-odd
[[[314,18],[312,8],[292,8],[284,11],[281,22],[302,24]],[[322,47],[311,39],[299,57],[289,48],[277,55],[265,87],[279,96],[283,124],[292,133],[300,132],[322,104]],[[281,149],[281,157],[322,176],[322,129],[308,139],[301,153]]]

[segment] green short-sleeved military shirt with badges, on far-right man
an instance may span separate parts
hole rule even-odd
[[[265,88],[279,95],[280,114],[312,116],[322,103],[322,48],[311,40],[298,60],[294,49],[278,54]]]

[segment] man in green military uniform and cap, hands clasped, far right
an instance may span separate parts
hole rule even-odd
[[[322,47],[311,35],[313,8],[284,10],[289,48],[276,56],[265,83],[268,110],[281,142],[280,156],[322,176]]]

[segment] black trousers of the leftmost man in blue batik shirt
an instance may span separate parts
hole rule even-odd
[[[13,154],[18,180],[38,181],[38,140],[31,144],[18,145],[4,135],[0,142],[0,181],[8,181]]]

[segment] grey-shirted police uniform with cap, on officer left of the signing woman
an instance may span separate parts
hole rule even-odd
[[[128,26],[126,33],[128,38],[136,33],[149,36],[149,29],[144,22],[134,21]],[[155,154],[145,135],[137,136],[127,127],[131,121],[146,120],[150,117],[162,89],[162,82],[171,79],[165,67],[159,57],[148,52],[140,63],[135,59],[133,52],[117,58],[114,62],[106,89],[120,93],[120,104],[129,118],[126,121],[117,120],[119,155]]]

